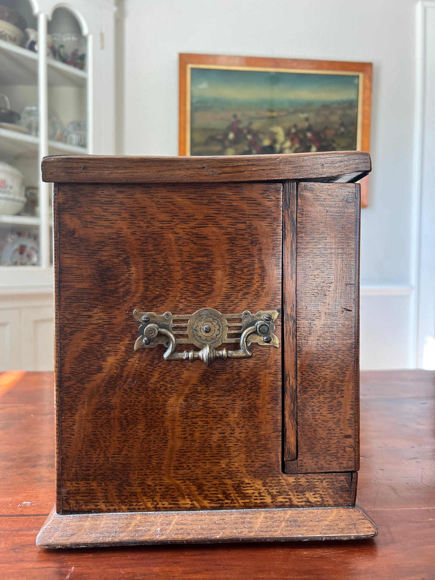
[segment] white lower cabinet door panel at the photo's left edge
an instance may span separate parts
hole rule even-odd
[[[0,310],[0,371],[21,368],[20,309]]]

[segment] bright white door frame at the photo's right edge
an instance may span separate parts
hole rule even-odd
[[[416,4],[411,276],[413,366],[435,369],[435,1]]]

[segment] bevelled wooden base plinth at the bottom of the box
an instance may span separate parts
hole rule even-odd
[[[302,541],[373,538],[361,507],[90,513],[53,508],[37,537],[41,548],[155,543]]]

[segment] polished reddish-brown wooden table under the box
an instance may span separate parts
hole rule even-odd
[[[53,375],[0,374],[0,578],[435,578],[434,423],[434,372],[361,374],[357,499],[379,526],[372,540],[44,550]]]

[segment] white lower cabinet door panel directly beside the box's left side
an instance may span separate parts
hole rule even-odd
[[[24,370],[53,370],[53,336],[52,306],[33,306],[21,310]]]

